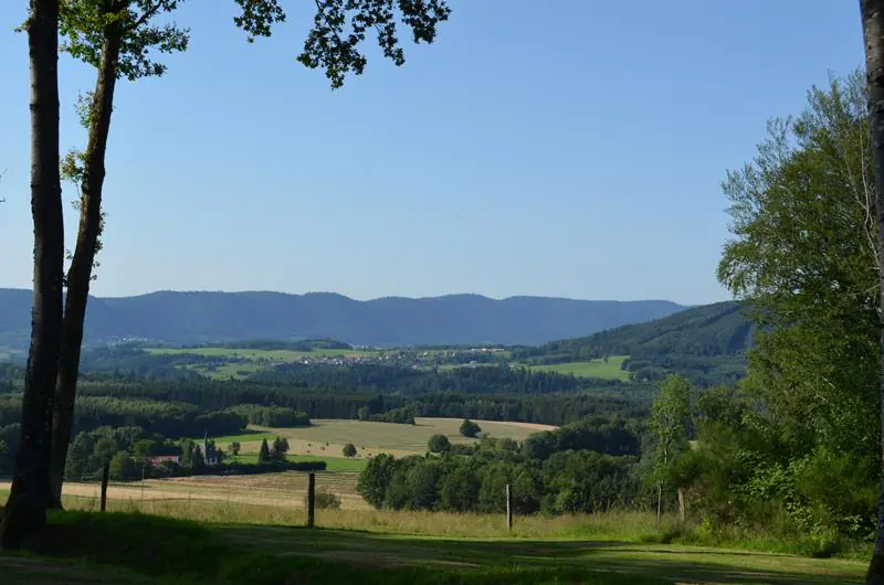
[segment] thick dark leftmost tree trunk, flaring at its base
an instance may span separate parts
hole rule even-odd
[[[31,349],[21,443],[0,525],[0,546],[36,544],[46,521],[52,411],[61,347],[64,221],[59,170],[59,0],[31,0],[31,214],[34,223]]]

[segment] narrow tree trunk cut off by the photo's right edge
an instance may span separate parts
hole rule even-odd
[[[865,40],[865,72],[869,116],[872,128],[875,169],[875,205],[878,227],[878,281],[884,283],[884,0],[860,0]],[[884,286],[881,287],[884,310]],[[878,313],[881,315],[881,312]],[[881,327],[881,426],[882,474],[877,504],[877,534],[866,583],[884,585],[884,322]]]

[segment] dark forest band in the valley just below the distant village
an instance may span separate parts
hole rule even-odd
[[[581,379],[569,374],[511,368],[506,364],[477,368],[422,370],[383,364],[350,364],[336,368],[288,363],[257,372],[263,383],[347,387],[385,394],[554,394],[587,387],[618,387],[619,380]]]

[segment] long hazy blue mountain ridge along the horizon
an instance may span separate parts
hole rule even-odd
[[[0,289],[0,340],[28,338],[30,308],[30,290]],[[497,300],[481,295],[449,295],[360,301],[333,292],[158,291],[91,298],[86,341],[146,338],[199,343],[327,338],[377,347],[534,345],[650,321],[683,309],[666,300]]]

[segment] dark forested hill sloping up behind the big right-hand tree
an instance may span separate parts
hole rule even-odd
[[[562,363],[629,355],[624,368],[635,380],[677,372],[708,385],[740,377],[755,327],[739,302],[716,302],[650,322],[629,325],[589,337],[552,341],[516,351],[532,363]]]

